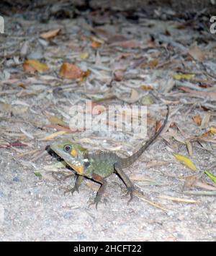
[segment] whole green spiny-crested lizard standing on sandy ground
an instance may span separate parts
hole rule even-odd
[[[102,200],[104,191],[107,187],[106,178],[111,174],[115,173],[127,187],[127,195],[130,194],[130,200],[132,200],[132,194],[135,191],[135,187],[130,181],[129,177],[122,170],[132,165],[135,161],[138,160],[140,155],[153,143],[154,140],[161,134],[163,128],[166,126],[168,121],[169,108],[167,106],[166,119],[163,121],[163,124],[160,129],[150,137],[150,139],[145,142],[140,149],[135,152],[133,155],[127,156],[126,158],[121,158],[113,151],[97,151],[94,153],[89,153],[86,148],[83,148],[81,145],[75,144],[70,140],[63,140],[60,142],[53,142],[50,145],[51,150],[53,150],[60,158],[73,168],[77,174],[75,185],[72,189],[68,189],[66,192],[78,192],[78,188],[81,185],[84,177],[92,179],[94,182],[101,184],[96,197],[94,198],[93,204],[97,205]],[[127,202],[129,203],[130,200]]]

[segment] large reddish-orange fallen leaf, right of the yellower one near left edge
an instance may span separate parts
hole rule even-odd
[[[74,64],[65,62],[60,67],[60,77],[67,79],[78,79],[84,76],[85,72]]]

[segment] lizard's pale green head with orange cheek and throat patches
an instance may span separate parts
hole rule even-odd
[[[54,142],[50,145],[50,148],[59,155],[60,158],[63,158],[68,166],[71,166],[78,174],[84,174],[84,168],[86,164],[88,164],[87,159],[84,157],[84,153],[87,152],[86,148],[68,140]]]

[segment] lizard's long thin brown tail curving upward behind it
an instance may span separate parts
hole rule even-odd
[[[167,114],[166,119],[163,121],[163,124],[160,129],[158,129],[158,132],[156,132],[153,137],[151,137],[147,142],[145,142],[145,145],[143,145],[136,153],[133,155],[128,156],[127,158],[120,158],[120,163],[122,168],[127,168],[128,166],[132,165],[139,157],[143,154],[143,152],[149,147],[150,144],[153,143],[154,140],[158,137],[158,135],[161,134],[163,128],[166,126],[166,123],[168,121],[168,114],[169,114],[169,107],[167,107]]]

